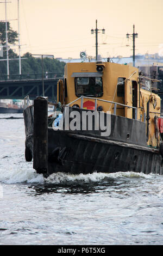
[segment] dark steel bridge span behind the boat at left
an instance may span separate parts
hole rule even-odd
[[[39,76],[38,76],[39,75]],[[41,74],[33,74],[26,76],[9,77],[9,79],[0,79],[0,99],[24,99],[27,95],[31,100],[36,96],[43,96],[42,83],[44,84],[45,96],[49,101],[57,100],[57,81],[63,78],[63,74],[55,74],[52,77],[45,76],[41,78]]]

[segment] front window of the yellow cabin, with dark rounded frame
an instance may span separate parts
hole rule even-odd
[[[101,97],[103,95],[102,77],[76,77],[76,95]]]

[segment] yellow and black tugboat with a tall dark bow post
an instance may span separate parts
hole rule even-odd
[[[26,97],[25,157],[45,177],[56,172],[163,174],[163,118],[156,82],[130,65],[67,63],[57,103]],[[54,106],[48,116],[48,104]]]

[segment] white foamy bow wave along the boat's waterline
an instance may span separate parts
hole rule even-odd
[[[155,174],[143,174],[134,172],[116,172],[116,173],[89,173],[89,174],[66,174],[66,173],[53,173],[48,176],[47,179],[43,178],[42,174],[37,174],[33,169],[32,164],[28,166],[23,164],[23,166],[8,166],[8,169],[0,169],[0,182],[6,184],[13,183],[63,183],[63,182],[100,182],[106,178],[146,178],[151,179]]]

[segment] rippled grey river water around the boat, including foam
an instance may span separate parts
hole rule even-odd
[[[22,117],[0,114],[0,245],[163,244],[163,176],[44,179],[24,159]]]

